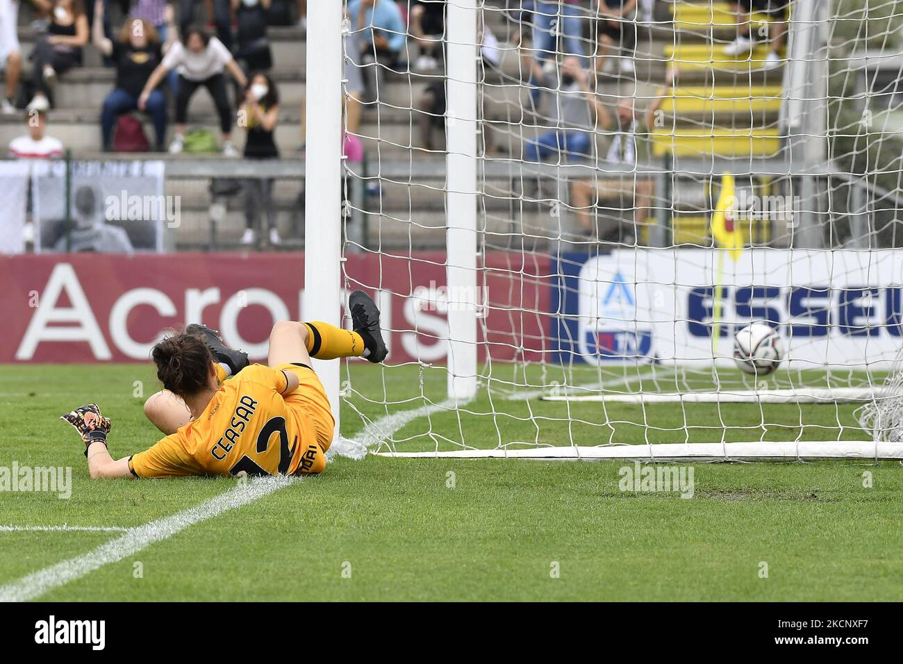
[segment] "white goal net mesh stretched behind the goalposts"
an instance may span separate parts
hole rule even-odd
[[[343,369],[358,440],[721,444],[715,459],[731,443],[801,458],[899,442],[903,3],[345,8],[344,287],[375,295],[391,349]],[[450,14],[465,11],[472,83],[450,80]],[[461,122],[473,154],[447,140]],[[475,191],[450,185],[450,153]],[[447,281],[455,194],[475,218],[463,286]],[[471,376],[450,361],[459,307],[477,330]],[[782,341],[768,375],[732,358],[754,322]],[[472,396],[450,394],[454,371]]]

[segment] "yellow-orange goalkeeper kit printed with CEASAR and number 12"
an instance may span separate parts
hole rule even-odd
[[[291,394],[285,371],[302,377]],[[303,365],[254,364],[228,379],[204,412],[129,460],[137,477],[302,474],[326,465],[322,426],[313,421],[325,400],[319,379]],[[321,416],[327,419],[327,416]],[[329,415],[331,418],[331,415]]]

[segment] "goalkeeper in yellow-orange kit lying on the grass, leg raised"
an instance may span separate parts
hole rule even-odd
[[[96,404],[62,416],[86,444],[91,478],[322,472],[335,419],[311,358],[386,358],[377,305],[362,291],[349,304],[353,332],[276,323],[268,366],[248,366],[247,354],[228,349],[203,325],[160,341],[153,357],[163,391],[144,404],[165,434],[159,443],[116,461],[107,451],[110,421]]]

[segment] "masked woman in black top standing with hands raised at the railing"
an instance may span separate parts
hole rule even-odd
[[[276,123],[279,121],[279,91],[273,79],[258,71],[250,77],[245,100],[238,110],[239,125],[247,128],[246,159],[278,159],[275,143]],[[247,228],[241,237],[244,245],[253,245],[260,228],[261,211],[266,217],[270,245],[280,243],[273,204],[273,178],[248,178],[245,181],[245,219]]]

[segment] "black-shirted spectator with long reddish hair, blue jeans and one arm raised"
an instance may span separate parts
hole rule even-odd
[[[126,20],[114,42],[104,36],[103,0],[97,0],[94,13],[100,19],[93,26],[94,45],[98,51],[116,62],[116,88],[104,99],[100,113],[104,150],[112,150],[116,117],[138,108],[138,98],[141,97],[144,84],[163,61],[163,50],[156,28],[144,19]],[[163,151],[166,141],[166,97],[163,90],[151,91],[145,110],[154,120],[156,149]]]

